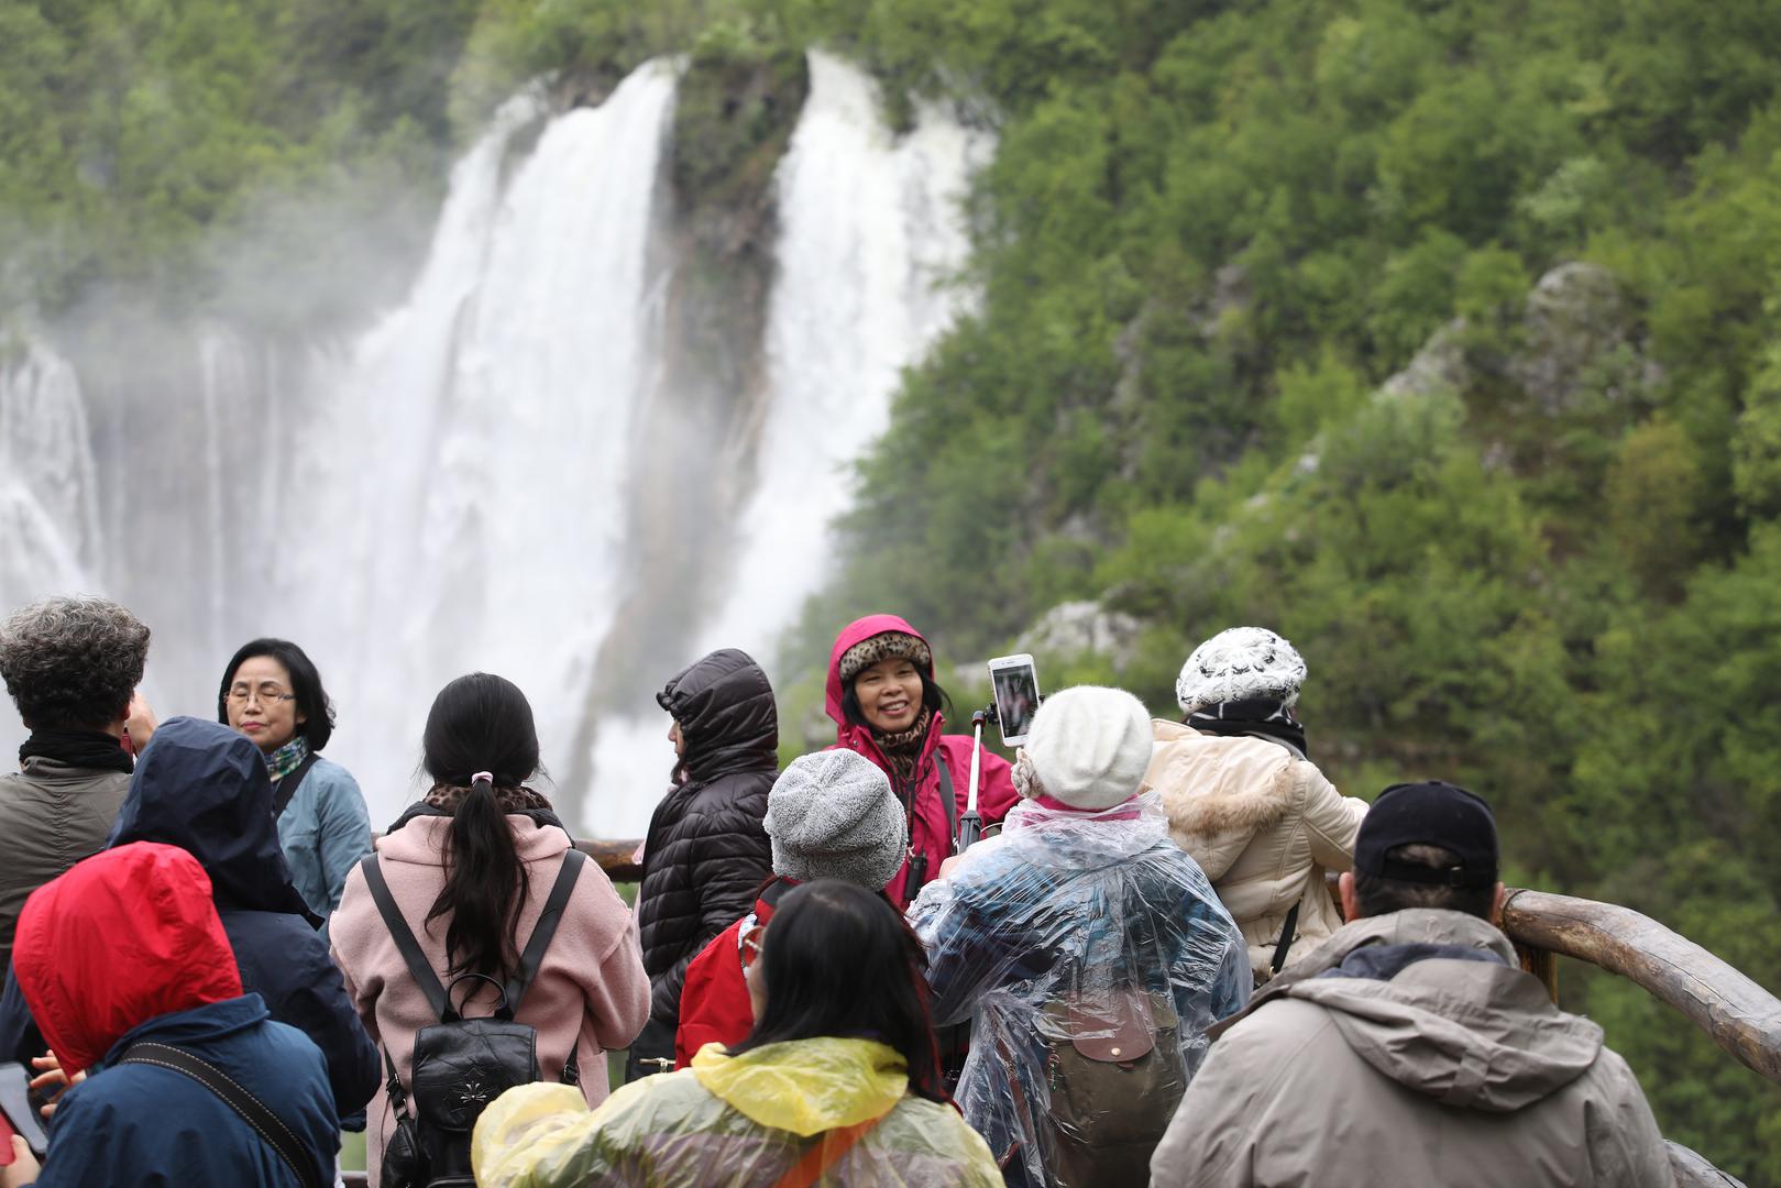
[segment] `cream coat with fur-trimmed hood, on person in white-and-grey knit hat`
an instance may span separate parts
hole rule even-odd
[[[1268,976],[1295,903],[1288,964],[1341,928],[1323,875],[1354,866],[1366,801],[1338,793],[1316,764],[1273,739],[1200,734],[1163,720],[1152,727],[1145,791],[1161,794],[1170,837],[1243,930],[1256,976]]]

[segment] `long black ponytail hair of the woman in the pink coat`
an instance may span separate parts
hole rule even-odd
[[[495,789],[538,771],[533,707],[504,677],[458,677],[433,698],[420,748],[435,787],[470,789],[451,819],[445,887],[427,924],[447,917],[452,972],[504,974],[518,964],[513,924],[525,910],[525,871]],[[481,771],[493,780],[472,782]]]

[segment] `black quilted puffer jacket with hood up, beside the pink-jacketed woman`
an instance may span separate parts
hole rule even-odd
[[[687,962],[748,914],[773,873],[760,819],[778,773],[778,707],[768,675],[736,648],[698,661],[655,700],[686,741],[650,819],[638,889],[650,1021],[666,1028],[671,1054]]]

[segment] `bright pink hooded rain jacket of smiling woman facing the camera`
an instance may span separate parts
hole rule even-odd
[[[828,716],[835,720],[837,727],[835,746],[846,746],[848,750],[866,755],[878,764],[885,775],[890,775],[890,762],[885,759],[885,753],[878,750],[873,732],[867,727],[851,725],[846,714],[841,712],[841,696],[844,693],[841,688],[841,655],[855,643],[871,639],[873,636],[882,636],[887,631],[915,636],[926,643],[926,638],[919,631],[896,614],[867,614],[866,618],[848,623],[835,639],[835,648],[828,654]],[[930,673],[930,677],[931,675],[933,673]],[[939,878],[940,862],[953,853],[953,834],[947,826],[946,803],[940,800],[940,773],[935,768],[937,762],[944,762],[946,769],[953,777],[953,796],[958,801],[958,812],[953,814],[953,819],[964,816],[965,805],[971,801],[972,739],[967,734],[942,736],[944,728],[944,716],[935,712],[933,727],[928,730],[928,745],[921,753],[921,766],[917,768],[915,814],[912,823],[914,828],[910,828],[910,850],[914,853],[928,855],[928,882]],[[1019,793],[1013,791],[1012,768],[1008,766],[1008,761],[985,746],[981,775],[978,777],[978,818],[983,819],[983,825],[1001,821],[1019,798]],[[890,903],[898,907],[898,910],[907,908],[919,891],[919,887],[903,885],[907,876],[908,862],[905,860],[885,885],[885,894],[890,898]],[[905,894],[905,891],[908,894]]]

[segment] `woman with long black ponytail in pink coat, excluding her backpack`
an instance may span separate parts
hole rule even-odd
[[[506,981],[570,850],[550,801],[527,787],[540,769],[533,707],[511,680],[459,677],[435,698],[422,750],[433,785],[378,842],[378,869],[443,985],[465,974]],[[362,867],[347,876],[329,935],[365,1029],[406,1085],[415,1033],[438,1015],[408,972]],[[454,1001],[465,1017],[495,1012],[495,981],[459,983]],[[630,1044],[648,1021],[648,992],[630,910],[586,864],[515,1012],[538,1029],[543,1078],[559,1081],[573,1051],[588,1072],[581,1081],[588,1104],[604,1101],[604,1053]],[[367,1127],[372,1188],[392,1124],[379,1090]]]

